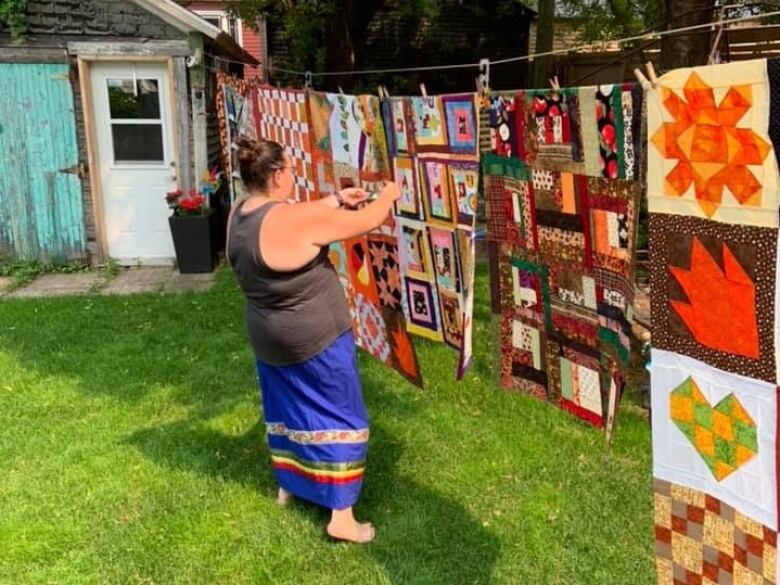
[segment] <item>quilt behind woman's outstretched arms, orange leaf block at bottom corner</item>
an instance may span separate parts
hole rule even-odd
[[[309,92],[312,163],[323,196],[347,187],[378,191],[390,180],[379,99]],[[332,244],[359,347],[422,386],[402,307],[401,252],[392,218],[367,236]]]

